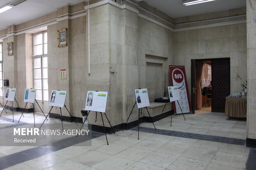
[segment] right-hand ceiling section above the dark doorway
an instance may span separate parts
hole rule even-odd
[[[142,1],[142,0],[136,0]],[[172,18],[218,12],[246,7],[246,0],[215,0],[197,5],[185,6],[183,0],[144,0]]]

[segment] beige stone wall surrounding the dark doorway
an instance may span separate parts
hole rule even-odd
[[[247,79],[246,24],[180,31],[174,35],[176,65],[185,65],[191,92],[191,60],[230,58],[230,93],[241,92]]]

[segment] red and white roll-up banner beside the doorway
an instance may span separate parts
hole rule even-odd
[[[171,77],[171,85],[178,86],[180,92],[180,100],[179,104],[175,101],[174,105],[174,113],[190,113],[192,112],[191,103],[190,103],[190,95],[187,86],[187,77],[184,66],[179,65],[169,65],[170,77]],[[181,107],[181,109],[180,109]]]

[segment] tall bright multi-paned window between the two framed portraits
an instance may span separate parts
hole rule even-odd
[[[34,88],[36,99],[48,101],[47,32],[33,35]]]

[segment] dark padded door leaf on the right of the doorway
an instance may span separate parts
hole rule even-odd
[[[230,95],[230,58],[213,59],[212,76],[212,112],[225,112],[226,97]]]

